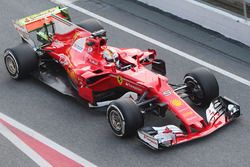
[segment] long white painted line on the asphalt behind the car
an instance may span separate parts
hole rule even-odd
[[[209,69],[211,69],[211,70],[213,70],[213,71],[216,71],[216,72],[218,72],[218,73],[220,73],[220,74],[222,74],[222,75],[225,75],[225,76],[227,76],[227,77],[229,77],[229,78],[231,78],[231,79],[233,79],[233,80],[235,80],[235,81],[238,81],[238,82],[240,82],[240,83],[242,83],[242,84],[245,84],[245,85],[247,85],[247,86],[250,86],[250,81],[247,80],[247,79],[245,79],[245,78],[242,78],[242,77],[240,77],[240,76],[238,76],[238,75],[235,75],[235,74],[233,74],[233,73],[231,73],[231,72],[228,72],[228,71],[226,71],[226,70],[224,70],[224,69],[222,69],[222,68],[220,68],[220,67],[217,67],[217,66],[215,66],[215,65],[212,65],[212,64],[210,64],[210,63],[207,63],[207,62],[205,62],[205,61],[203,61],[203,60],[201,60],[201,59],[198,59],[198,58],[196,58],[196,57],[194,57],[194,56],[192,56],[192,55],[190,55],[190,54],[188,54],[188,53],[185,53],[185,52],[180,51],[180,50],[178,50],[178,49],[176,49],[176,48],[173,48],[173,47],[171,47],[171,46],[169,46],[169,45],[167,45],[167,44],[164,44],[164,43],[162,43],[162,42],[160,42],[160,41],[157,41],[157,40],[155,40],[155,39],[153,39],[153,38],[151,38],[151,37],[148,37],[148,36],[146,36],[146,35],[144,35],[144,34],[141,34],[141,33],[139,33],[139,32],[136,32],[136,31],[134,31],[134,30],[132,30],[132,29],[130,29],[130,28],[127,28],[127,27],[121,25],[121,24],[118,24],[118,23],[116,23],[116,22],[114,22],[114,21],[111,21],[111,20],[105,18],[105,17],[102,17],[102,16],[100,16],[100,15],[97,15],[97,14],[91,12],[91,11],[88,11],[88,10],[82,8],[82,7],[79,7],[79,6],[77,6],[77,5],[74,5],[74,4],[72,4],[72,3],[71,3],[70,1],[68,1],[68,0],[51,0],[51,1],[54,2],[54,3],[57,3],[57,4],[66,5],[66,6],[70,7],[70,8],[73,8],[73,9],[75,9],[75,10],[81,12],[81,13],[84,13],[84,14],[90,16],[90,17],[96,18],[96,19],[98,19],[98,20],[100,20],[100,21],[102,21],[102,22],[104,22],[104,23],[106,23],[106,24],[109,24],[109,25],[111,25],[111,26],[113,26],[113,27],[116,27],[116,28],[118,28],[118,29],[120,29],[120,30],[122,30],[122,31],[125,31],[125,32],[127,32],[127,33],[129,33],[129,34],[131,34],[131,35],[134,35],[134,36],[136,36],[136,37],[138,37],[138,38],[141,38],[141,39],[143,39],[143,40],[145,40],[145,41],[147,41],[147,42],[149,42],[149,43],[152,43],[152,44],[154,44],[154,45],[157,45],[157,46],[159,46],[159,47],[161,47],[161,48],[163,48],[163,49],[166,49],[166,50],[168,50],[168,51],[171,51],[171,52],[173,52],[173,53],[175,53],[175,54],[177,54],[177,55],[179,55],[179,56],[181,56],[181,57],[184,57],[184,58],[186,58],[186,59],[188,59],[188,60],[191,60],[191,61],[193,61],[193,62],[195,62],[195,63],[197,63],[197,64],[200,64],[200,65],[202,65],[202,66],[205,66],[205,67],[207,67],[207,68],[209,68]]]

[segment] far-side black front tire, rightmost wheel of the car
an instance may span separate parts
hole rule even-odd
[[[208,105],[219,96],[218,82],[206,68],[196,68],[184,77],[187,85],[187,94],[190,100],[198,106]]]

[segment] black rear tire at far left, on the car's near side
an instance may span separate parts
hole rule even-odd
[[[13,79],[22,79],[38,68],[38,56],[26,43],[6,49],[4,62],[7,71]]]

